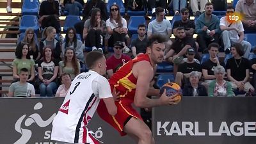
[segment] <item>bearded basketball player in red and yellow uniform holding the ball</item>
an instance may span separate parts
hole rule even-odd
[[[165,90],[159,99],[147,97],[147,95],[159,95],[159,90],[150,88],[150,81],[154,77],[153,67],[163,61],[164,42],[166,42],[164,36],[151,35],[148,38],[146,54],[141,54],[125,63],[109,79],[111,90],[115,88],[116,92],[120,92],[120,99],[115,102],[118,109],[117,114],[109,115],[102,100],[97,109],[103,120],[112,125],[122,136],[125,134],[131,136],[138,144],[154,144],[155,142],[152,132],[131,104],[134,102],[135,106],[139,108],[152,108],[177,104],[180,101],[176,97],[177,94],[167,97]]]

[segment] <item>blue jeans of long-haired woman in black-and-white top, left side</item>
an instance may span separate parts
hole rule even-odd
[[[57,84],[55,82],[51,82],[48,85],[41,83],[40,84],[40,97],[53,97],[53,92],[56,89],[57,89]]]

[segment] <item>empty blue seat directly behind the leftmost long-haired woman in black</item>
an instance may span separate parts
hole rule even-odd
[[[25,33],[27,28],[34,29],[35,33],[39,31],[39,24],[36,15],[23,15],[20,20],[20,33]]]

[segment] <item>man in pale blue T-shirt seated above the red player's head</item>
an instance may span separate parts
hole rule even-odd
[[[165,47],[170,49],[170,45],[172,45],[172,41],[170,40],[170,36],[172,36],[172,24],[170,20],[164,19],[164,9],[161,7],[156,8],[156,19],[152,20],[148,24],[148,37],[153,33],[159,33],[161,35],[167,36],[168,42],[165,43]]]

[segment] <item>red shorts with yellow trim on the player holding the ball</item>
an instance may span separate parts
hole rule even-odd
[[[134,118],[140,118],[141,120],[142,118],[140,114],[132,108],[131,102],[125,102],[125,98],[121,98],[121,100],[115,102],[115,104],[117,107],[117,113],[115,116],[109,115],[108,109],[102,99],[99,102],[97,112],[100,118],[112,125],[118,132],[120,132],[121,136],[125,136],[124,124],[127,123],[127,119],[131,116]]]

